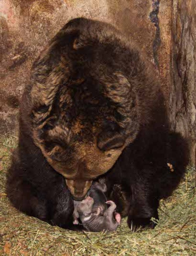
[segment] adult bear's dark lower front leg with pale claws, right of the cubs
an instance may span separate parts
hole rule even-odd
[[[158,220],[159,201],[153,196],[152,188],[147,184],[134,184],[131,187],[132,195],[130,199],[130,208],[127,224],[135,232],[139,227],[154,228],[155,223],[151,218]]]

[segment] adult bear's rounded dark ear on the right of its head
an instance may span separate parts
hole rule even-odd
[[[97,147],[103,151],[120,148],[124,145],[124,143],[124,136],[114,131],[101,132],[97,139]]]

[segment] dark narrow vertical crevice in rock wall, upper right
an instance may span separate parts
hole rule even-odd
[[[159,19],[158,19],[160,0],[157,0],[157,1],[152,0],[152,4],[153,4],[153,11],[150,12],[149,18],[156,27],[155,39],[153,40],[153,56],[154,56],[155,67],[159,71],[159,61],[158,61],[157,52],[161,43]]]

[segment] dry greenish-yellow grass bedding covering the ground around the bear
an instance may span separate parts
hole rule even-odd
[[[11,135],[0,141],[0,255],[196,255],[193,168],[173,196],[160,203],[154,230],[131,233],[124,219],[115,233],[79,233],[50,226],[10,205],[5,176],[15,141]]]

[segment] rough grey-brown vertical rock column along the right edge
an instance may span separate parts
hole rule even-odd
[[[196,159],[196,1],[173,1],[170,120],[173,130],[190,137],[191,163]]]

